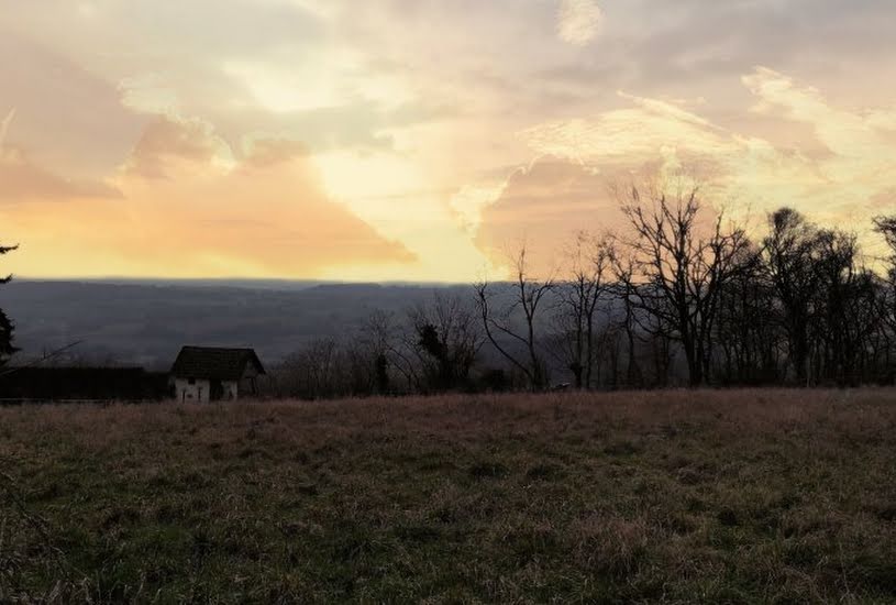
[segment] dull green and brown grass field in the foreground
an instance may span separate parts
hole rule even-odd
[[[896,392],[0,409],[0,602],[896,602]]]

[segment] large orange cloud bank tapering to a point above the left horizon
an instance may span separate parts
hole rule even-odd
[[[125,200],[0,212],[25,243],[20,273],[330,277],[414,260],[330,199],[295,147],[262,141],[232,155],[199,121],[153,122],[119,175]]]

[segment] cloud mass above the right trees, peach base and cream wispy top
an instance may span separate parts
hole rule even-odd
[[[742,79],[752,111],[788,128],[793,146],[729,130],[678,105],[620,95],[628,107],[588,119],[558,120],[520,132],[541,157],[520,169],[501,195],[480,211],[477,244],[490,256],[521,237],[542,250],[560,250],[582,228],[619,227],[612,184],[638,180],[639,167],[671,177],[682,170],[706,183],[707,201],[735,218],[753,220],[781,205],[814,220],[866,234],[871,217],[893,204],[896,109],[842,109],[812,87],[759,67]],[[753,220],[755,223],[755,221]],[[873,243],[871,238],[867,242]]]

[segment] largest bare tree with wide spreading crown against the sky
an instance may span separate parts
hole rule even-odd
[[[700,209],[699,187],[682,185],[671,191],[633,187],[622,206],[634,231],[630,248],[635,271],[644,280],[638,288],[639,305],[660,326],[671,328],[684,350],[693,387],[703,385],[709,372],[721,287],[749,245],[742,229],[724,226],[721,212],[703,230]]]

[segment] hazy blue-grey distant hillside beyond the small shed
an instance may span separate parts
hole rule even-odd
[[[309,282],[29,282],[0,288],[21,358],[81,340],[76,355],[167,369],[182,344],[254,346],[274,363],[318,337],[363,324],[375,309],[402,310],[434,289],[469,286]]]

